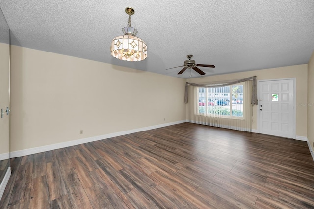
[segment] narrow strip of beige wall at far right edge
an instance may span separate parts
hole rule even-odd
[[[314,148],[314,51],[308,63],[308,139]]]

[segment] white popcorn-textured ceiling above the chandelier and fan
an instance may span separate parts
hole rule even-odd
[[[131,26],[148,45],[147,59],[118,60],[110,43]],[[0,0],[12,44],[178,78],[200,77],[183,65],[187,54],[206,75],[308,63],[314,50],[314,0]]]

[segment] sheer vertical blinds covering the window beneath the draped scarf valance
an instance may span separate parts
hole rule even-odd
[[[252,80],[247,80],[226,87],[210,88],[189,85],[187,121],[239,131],[252,131],[252,83]]]

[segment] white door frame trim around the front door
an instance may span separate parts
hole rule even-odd
[[[292,127],[293,127],[293,139],[296,139],[296,78],[278,78],[278,79],[266,79],[266,80],[258,80],[257,81],[257,99],[258,99],[258,108],[257,108],[257,132],[260,133],[260,111],[259,111],[259,103],[260,103],[260,84],[265,81],[280,81],[280,80],[292,80],[293,82],[293,115],[292,115]]]

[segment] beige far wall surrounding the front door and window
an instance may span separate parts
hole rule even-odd
[[[296,78],[296,103],[307,103],[307,68],[308,65],[294,65],[288,67],[271,68],[256,71],[247,71],[233,74],[224,74],[217,76],[208,76],[201,78],[187,79],[187,82],[205,84],[210,82],[219,82],[235,80],[257,76],[257,80],[278,79],[278,78]],[[254,121],[252,129],[257,129],[257,106],[253,108]],[[296,135],[307,136],[307,107],[296,106]]]

